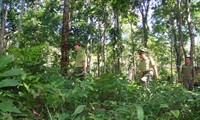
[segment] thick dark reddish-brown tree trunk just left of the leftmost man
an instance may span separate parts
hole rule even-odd
[[[61,43],[61,69],[64,76],[67,75],[68,58],[68,35],[69,35],[69,0],[64,0],[62,43]]]

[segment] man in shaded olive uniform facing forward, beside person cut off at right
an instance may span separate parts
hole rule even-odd
[[[190,91],[193,89],[193,84],[194,84],[194,79],[192,75],[193,70],[194,70],[194,67],[191,65],[190,57],[186,56],[185,63],[180,68],[179,82],[183,83],[185,88]]]

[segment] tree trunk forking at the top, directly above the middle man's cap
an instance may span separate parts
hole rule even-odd
[[[150,5],[150,0],[143,0],[141,5],[139,6],[139,10],[142,15],[143,44],[145,47],[147,47],[148,32],[149,32],[149,27],[147,23],[149,5]]]

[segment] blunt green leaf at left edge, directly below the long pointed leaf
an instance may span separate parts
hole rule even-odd
[[[4,79],[0,82],[0,88],[3,87],[10,87],[10,86],[17,86],[20,83],[16,80],[12,80],[12,79]]]

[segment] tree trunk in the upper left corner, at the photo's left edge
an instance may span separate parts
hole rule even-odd
[[[2,17],[1,17],[1,31],[0,31],[0,55],[3,55],[5,50],[4,50],[4,32],[5,32],[5,24],[6,24],[6,19],[7,19],[7,13],[8,13],[8,4],[5,3],[5,0],[2,0],[2,6],[1,6],[1,11],[2,11]]]

